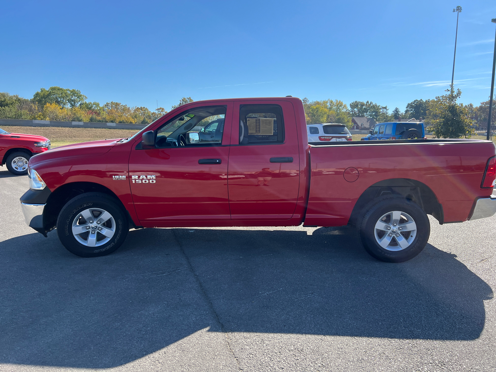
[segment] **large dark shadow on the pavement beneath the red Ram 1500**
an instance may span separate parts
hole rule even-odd
[[[0,243],[0,363],[109,368],[192,333],[473,340],[488,284],[428,245],[374,260],[350,228],[144,229],[80,258],[56,232]],[[325,342],[325,339],[324,341]]]

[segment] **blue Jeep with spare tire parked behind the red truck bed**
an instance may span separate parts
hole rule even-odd
[[[424,138],[425,136],[424,123],[379,123],[371,128],[371,132],[367,137],[362,137],[362,141],[377,139],[415,139]]]

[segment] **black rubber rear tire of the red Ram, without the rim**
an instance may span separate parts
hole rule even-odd
[[[384,262],[404,262],[419,254],[427,245],[431,224],[426,212],[415,202],[394,196],[370,205],[358,224],[360,241],[372,257]],[[379,246],[374,230],[378,219],[387,212],[399,210],[409,214],[417,225],[417,235],[412,244],[402,250],[391,251]]]

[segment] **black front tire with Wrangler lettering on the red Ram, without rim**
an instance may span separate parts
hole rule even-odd
[[[106,244],[99,247],[87,247],[79,243],[72,234],[72,222],[79,212],[88,208],[101,208],[114,217],[116,231]],[[127,236],[128,223],[122,209],[114,199],[100,192],[88,192],[69,200],[62,208],[57,220],[57,234],[62,245],[71,253],[80,257],[98,257],[114,252]]]

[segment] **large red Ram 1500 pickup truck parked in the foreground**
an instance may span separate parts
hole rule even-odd
[[[20,200],[29,226],[57,228],[83,257],[115,251],[130,228],[352,224],[373,257],[401,262],[426,246],[427,214],[496,212],[495,154],[469,139],[310,146],[298,98],[198,101],[129,138],[33,156]]]

